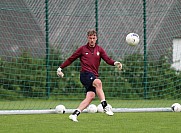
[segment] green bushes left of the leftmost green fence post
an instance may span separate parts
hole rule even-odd
[[[23,97],[38,97],[45,93],[44,60],[31,57],[24,51],[18,58],[3,61],[1,68],[3,89]],[[10,96],[11,97],[11,96]]]

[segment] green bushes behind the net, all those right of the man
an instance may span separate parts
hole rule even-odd
[[[147,63],[146,72],[142,54],[135,53],[125,56],[120,62],[123,64],[122,72],[114,70],[105,63],[102,64],[100,70],[104,91],[109,97],[121,99],[179,98],[181,74],[171,68],[166,56],[161,56],[158,61]],[[147,73],[146,88],[144,87],[144,73]]]

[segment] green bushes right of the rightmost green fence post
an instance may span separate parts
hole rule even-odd
[[[151,99],[173,99],[180,95],[175,91],[180,86],[178,82],[180,72],[171,68],[166,56],[161,56],[159,61],[153,61],[148,69],[148,93]]]

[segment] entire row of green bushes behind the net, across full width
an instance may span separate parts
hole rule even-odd
[[[76,60],[66,67],[63,70],[65,78],[60,79],[56,75],[59,64],[63,62],[60,55],[59,51],[50,50],[49,69],[46,67],[46,59],[34,58],[26,51],[8,61],[0,59],[0,98],[47,97],[47,84],[50,86],[50,96],[56,99],[84,97],[84,88],[79,81],[80,61]],[[123,64],[122,71],[107,65],[104,61],[101,62],[99,74],[108,98],[175,99],[180,97],[181,74],[171,68],[166,56],[147,63],[146,88],[143,55],[137,53],[125,55],[120,62]],[[47,76],[49,82],[46,80]]]

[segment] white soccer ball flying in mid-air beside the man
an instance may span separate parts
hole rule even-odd
[[[126,36],[126,42],[130,46],[136,46],[139,43],[139,41],[140,41],[139,35],[136,33],[129,33]]]

